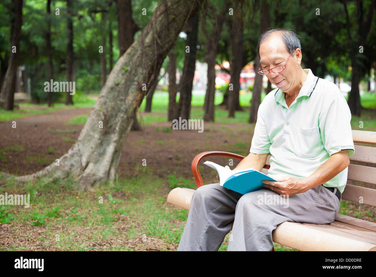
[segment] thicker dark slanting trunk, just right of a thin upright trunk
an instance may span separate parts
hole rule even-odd
[[[179,103],[177,104],[174,119],[190,119],[191,99],[194,70],[196,69],[196,52],[199,29],[199,14],[195,14],[187,23],[186,46],[189,46],[189,52],[185,53],[184,67],[182,77],[179,82]],[[187,48],[186,48],[187,49]]]

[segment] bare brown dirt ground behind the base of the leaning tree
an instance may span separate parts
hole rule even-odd
[[[12,174],[30,174],[41,170],[68,151],[79,136],[83,125],[66,125],[72,118],[88,115],[91,108],[58,110],[51,113],[30,115],[12,121],[0,122],[2,139],[0,149],[22,145],[21,150],[3,152],[0,168]],[[146,115],[146,113],[142,113]],[[230,151],[231,145],[243,144],[240,149],[248,153],[252,139],[253,125],[248,123],[223,124],[204,122],[204,132],[197,130],[172,130],[171,123],[157,122],[143,127],[142,131],[131,131],[123,147],[118,174],[120,176],[137,175],[142,169],[143,159],[146,165],[159,176],[176,174],[192,178],[191,162],[200,152],[209,150]],[[53,133],[52,130],[77,130],[74,133]],[[171,132],[162,132],[170,129]],[[243,130],[238,132],[238,130]],[[249,130],[249,132],[248,132]],[[227,147],[228,146],[228,147]],[[53,148],[49,153],[48,149]],[[19,147],[20,148],[20,147]],[[243,154],[244,155],[244,154]],[[246,154],[245,154],[246,155]],[[1,157],[1,156],[0,156]],[[214,162],[226,162],[226,158],[212,158]],[[212,173],[212,169],[203,172]],[[209,181],[208,181],[209,182]]]

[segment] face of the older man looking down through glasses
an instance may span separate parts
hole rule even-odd
[[[265,39],[260,46],[260,64],[262,69],[271,69],[277,66],[284,66],[290,53],[279,36],[270,35],[271,38]],[[296,86],[296,77],[298,76],[296,52],[294,57],[290,57],[286,68],[282,72],[274,73],[269,71],[268,77],[270,83],[276,85],[284,92],[291,92]]]

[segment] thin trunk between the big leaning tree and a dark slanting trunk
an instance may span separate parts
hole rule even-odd
[[[176,49],[173,47],[168,54],[168,115],[167,120],[172,121],[176,108]]]

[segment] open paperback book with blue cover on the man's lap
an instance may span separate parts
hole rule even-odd
[[[253,168],[232,171],[214,162],[206,161],[204,164],[218,171],[219,184],[225,188],[246,194],[251,191],[261,190],[264,185],[262,180],[276,181],[268,175]]]

